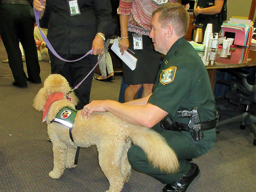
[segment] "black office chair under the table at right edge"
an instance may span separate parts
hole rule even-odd
[[[256,132],[256,116],[255,111],[251,112],[249,109],[254,107],[256,101],[256,85],[255,77],[251,77],[248,73],[240,69],[228,69],[224,70],[225,72],[237,77],[237,79],[232,80],[218,80],[217,83],[225,84],[229,86],[229,92],[225,94],[225,98],[228,99],[228,102],[236,106],[244,105],[244,111],[238,116],[234,116],[225,120],[219,119],[217,122],[217,133],[219,132],[219,126],[231,123],[231,122],[241,122],[241,129],[245,129],[246,126],[249,127],[251,132],[254,135],[253,144],[256,146],[255,141],[255,132]],[[256,73],[255,73],[256,76]],[[225,106],[217,106],[219,111],[220,118],[222,114],[230,115],[230,111],[226,110]],[[253,110],[252,110],[253,111]]]

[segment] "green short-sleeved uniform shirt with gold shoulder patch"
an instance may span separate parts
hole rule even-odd
[[[177,110],[198,108],[201,122],[215,119],[215,98],[207,70],[194,48],[180,38],[170,48],[148,100],[168,112],[173,121],[188,124],[188,118],[177,117]]]

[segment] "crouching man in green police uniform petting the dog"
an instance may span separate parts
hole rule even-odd
[[[200,177],[198,165],[188,159],[207,153],[216,139],[215,99],[202,60],[185,40],[188,23],[188,12],[180,4],[166,4],[153,13],[150,37],[165,58],[151,95],[126,103],[92,101],[82,111],[87,118],[94,111],[110,111],[126,122],[160,133],[177,154],[177,173],[154,168],[136,145],[128,158],[135,170],[166,184],[164,192],[186,191]]]

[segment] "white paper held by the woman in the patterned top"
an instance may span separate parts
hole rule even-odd
[[[118,40],[115,39],[114,44],[111,46],[111,50],[133,71],[136,68],[137,58],[131,53],[124,51],[123,55],[118,47]]]

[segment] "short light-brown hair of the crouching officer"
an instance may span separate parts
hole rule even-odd
[[[159,13],[158,22],[162,27],[171,24],[178,36],[185,36],[189,24],[189,14],[183,5],[167,3],[153,12],[153,16]]]

